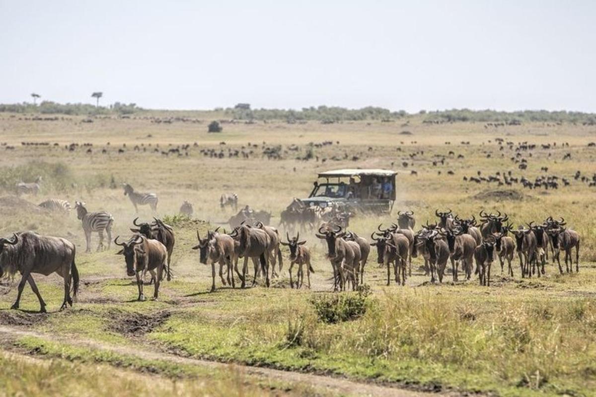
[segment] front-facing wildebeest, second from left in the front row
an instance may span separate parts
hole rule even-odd
[[[144,301],[143,280],[141,274],[144,271],[157,270],[153,299],[157,299],[159,285],[163,279],[163,269],[167,261],[166,247],[157,240],[148,239],[145,236],[135,234],[128,242],[119,243],[117,236],[114,239],[116,245],[122,249],[116,255],[124,255],[126,261],[126,274],[129,277],[136,276],[136,286],[139,289],[138,301]]]

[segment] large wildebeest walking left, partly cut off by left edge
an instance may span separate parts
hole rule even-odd
[[[60,310],[76,301],[79,292],[79,271],[75,264],[75,245],[60,237],[40,236],[35,232],[14,233],[12,239],[0,238],[0,277],[21,274],[17,300],[11,308],[18,309],[25,283],[29,283],[39,299],[39,311],[45,312],[45,302],[33,280],[32,273],[57,273],[64,279],[64,301]],[[72,281],[72,285],[71,285]],[[72,298],[70,297],[72,286]]]

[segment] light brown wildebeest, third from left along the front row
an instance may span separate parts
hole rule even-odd
[[[199,250],[199,261],[204,265],[211,265],[211,292],[215,291],[215,264],[219,263],[219,278],[222,280],[222,284],[231,285],[235,288],[234,273],[232,271],[232,263],[234,264],[234,270],[238,275],[238,278],[242,280],[240,273],[238,272],[238,260],[234,253],[234,239],[232,237],[218,233],[217,229],[215,232],[207,232],[207,238],[201,239],[197,230],[198,244],[193,249]],[[227,267],[227,277],[224,279],[223,268],[224,265]]]

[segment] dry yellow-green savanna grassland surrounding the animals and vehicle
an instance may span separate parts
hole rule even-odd
[[[187,121],[156,122],[166,117]],[[83,123],[86,117],[60,115],[58,120],[43,121],[30,120],[31,115],[0,114],[0,142],[6,143],[0,147],[0,232],[9,236],[17,230],[35,230],[66,237],[77,246],[82,280],[78,302],[57,312],[61,279],[35,277],[49,314],[35,313],[38,301],[29,286],[22,311],[10,310],[18,277],[0,284],[0,362],[10,368],[0,376],[0,385],[8,390],[5,394],[596,393],[596,187],[573,178],[578,170],[590,178],[596,172],[596,148],[588,146],[596,141],[596,127],[427,124],[419,116],[409,116],[392,122],[222,123],[221,133],[208,134],[207,124],[221,117],[147,111]],[[516,151],[508,145],[499,149],[496,138],[513,142],[514,149],[520,142],[537,145],[520,152],[518,160],[526,159],[526,170],[511,160]],[[309,145],[324,141],[333,144]],[[81,146],[69,151],[65,146],[70,143]],[[548,144],[550,149],[542,148]],[[181,148],[181,155],[162,154],[181,145],[190,146]],[[277,145],[281,160],[262,156],[263,148]],[[297,150],[289,150],[290,145]],[[211,149],[223,151],[224,157],[204,155]],[[229,150],[252,154],[229,157]],[[568,153],[570,160],[563,160]],[[310,160],[299,159],[308,154]],[[199,264],[191,247],[196,230],[204,235],[232,214],[219,208],[221,193],[236,192],[240,205],[271,211],[272,224],[277,225],[280,211],[292,198],[308,196],[317,172],[356,167],[399,171],[393,214],[357,215],[350,220],[350,230],[361,236],[369,237],[380,223],[388,226],[397,210],[415,212],[415,229],[427,220],[434,222],[436,208],[451,208],[462,217],[499,210],[507,212],[516,227],[552,215],[564,217],[580,233],[580,271],[560,275],[549,261],[545,276],[522,279],[516,257],[514,277],[501,273],[498,261],[493,264],[491,287],[480,287],[477,277],[452,282],[449,265],[443,283],[433,285],[418,268],[417,258],[406,286],[387,287],[386,273],[371,252],[365,270],[370,292],[333,298],[324,246],[308,235],[315,269],[311,290],[289,288],[284,251],[282,276],[273,280],[271,288],[231,289],[218,277],[218,289],[209,293],[211,269]],[[514,177],[530,180],[556,175],[569,179],[570,185],[530,190],[520,184],[464,181],[464,176],[477,176],[478,171],[482,176],[511,171]],[[42,176],[39,195],[17,198],[15,183],[33,182],[37,176]],[[110,186],[112,179],[115,187]],[[158,215],[167,215],[175,227],[175,278],[162,283],[159,301],[135,301],[136,286],[126,277],[123,258],[114,255],[114,245],[95,252],[97,234],[92,236],[93,252],[84,253],[85,237],[75,213],[65,217],[36,207],[46,198],[72,204],[84,201],[89,211],[111,212],[114,236],[128,237],[136,215],[123,195],[122,182],[157,193]],[[192,220],[172,216],[184,200],[194,206]],[[151,220],[154,214],[141,207],[138,215]],[[145,288],[151,292],[153,286]],[[321,302],[331,311],[358,310],[349,321],[324,321],[317,310]],[[209,367],[206,361],[321,377],[299,379],[277,373],[272,377],[266,372]],[[39,382],[54,373],[64,378]],[[356,382],[330,386],[322,376]],[[17,377],[31,380],[14,382]],[[156,386],[148,387],[149,383]],[[370,384],[379,389],[362,388]]]

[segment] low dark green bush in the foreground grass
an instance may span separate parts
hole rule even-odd
[[[370,289],[364,287],[354,293],[333,293],[311,299],[316,315],[324,323],[335,324],[355,320],[367,312]]]

